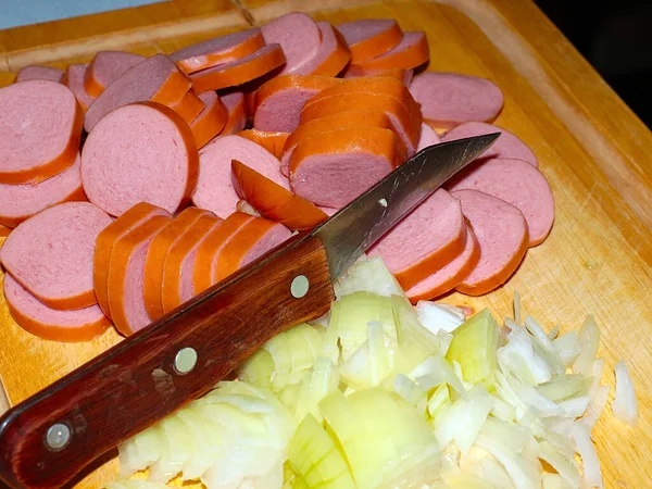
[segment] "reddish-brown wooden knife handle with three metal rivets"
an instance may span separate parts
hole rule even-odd
[[[0,418],[0,480],[16,489],[63,486],[208,392],[274,335],[325,314],[333,300],[324,244],[294,236],[10,410]],[[184,373],[192,352],[195,367]],[[66,431],[67,442],[51,448]]]

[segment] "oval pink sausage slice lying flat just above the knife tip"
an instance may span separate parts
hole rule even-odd
[[[455,73],[416,75],[410,91],[421,103],[424,120],[443,128],[469,121],[491,122],[504,102],[502,91],[494,83]]]

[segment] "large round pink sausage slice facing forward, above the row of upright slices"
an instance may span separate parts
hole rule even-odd
[[[115,216],[138,202],[174,214],[188,202],[198,168],[197,145],[188,124],[172,109],[152,102],[106,114],[88,135],[82,152],[82,183],[88,200]]]

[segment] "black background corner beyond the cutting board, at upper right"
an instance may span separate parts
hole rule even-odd
[[[652,0],[535,1],[652,127]]]

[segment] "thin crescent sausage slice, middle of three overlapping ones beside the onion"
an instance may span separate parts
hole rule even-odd
[[[480,260],[480,247],[473,230],[466,226],[466,246],[452,262],[405,290],[412,302],[428,301],[453,290],[476,267]]]

